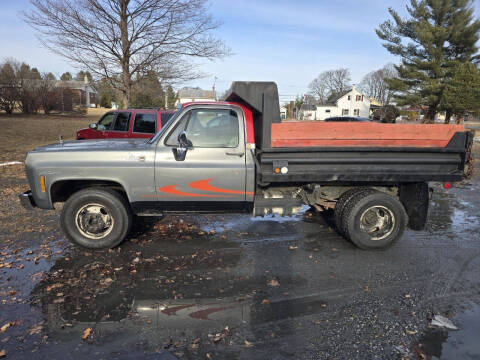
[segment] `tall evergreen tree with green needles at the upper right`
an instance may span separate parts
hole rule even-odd
[[[427,105],[432,122],[440,110],[445,87],[459,63],[478,61],[480,21],[472,0],[411,0],[409,18],[393,18],[380,25],[384,47],[401,58],[398,76],[387,79],[398,105]]]

